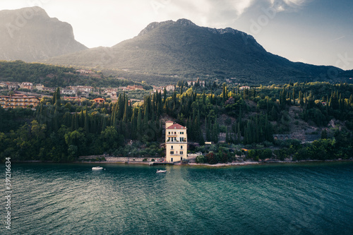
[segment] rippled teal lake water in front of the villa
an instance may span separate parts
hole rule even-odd
[[[13,164],[12,234],[353,234],[352,162],[97,165]]]

